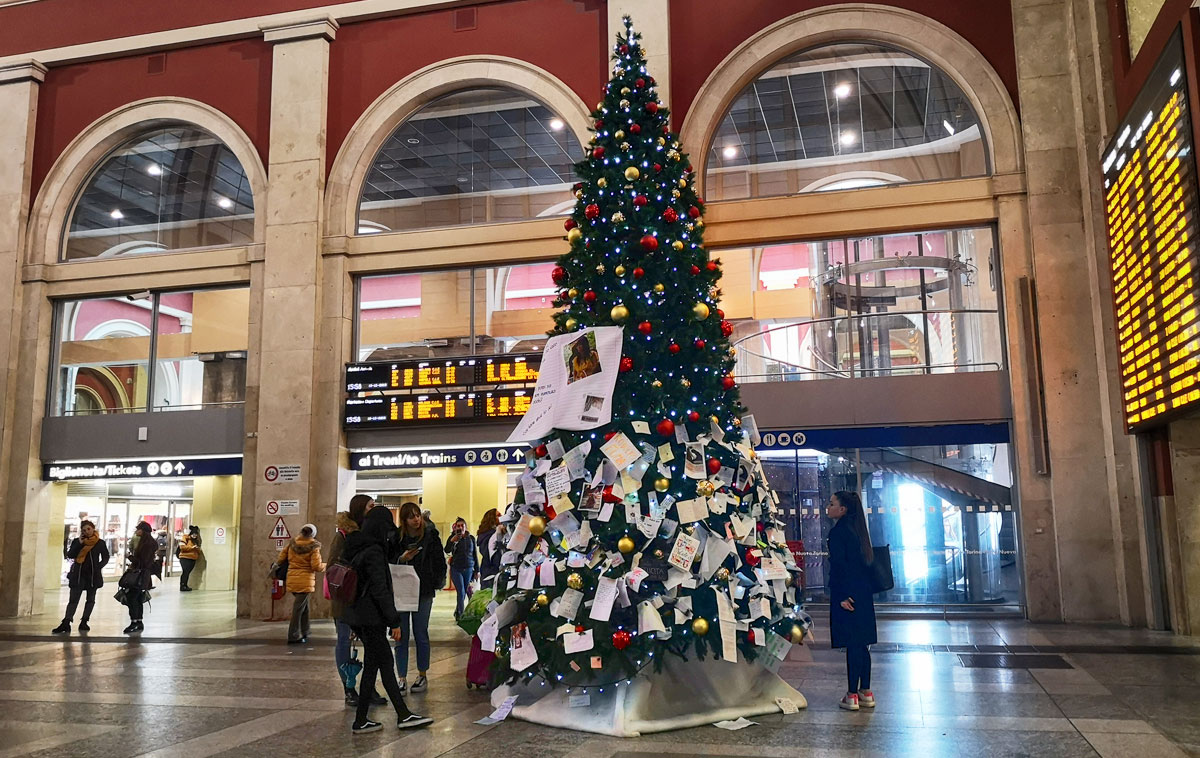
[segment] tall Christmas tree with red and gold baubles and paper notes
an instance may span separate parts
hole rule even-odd
[[[553,270],[551,336],[624,330],[612,421],[527,456],[485,632],[510,684],[628,682],[667,656],[772,666],[806,628],[731,373],[704,204],[640,40],[626,17]]]

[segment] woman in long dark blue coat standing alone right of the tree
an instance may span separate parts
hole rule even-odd
[[[875,553],[866,530],[863,501],[853,492],[836,492],[829,499],[829,634],[833,648],[846,649],[846,710],[875,708],[871,692],[870,645],[877,640],[875,601],[871,595],[871,561]]]

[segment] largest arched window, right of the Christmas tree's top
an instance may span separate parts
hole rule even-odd
[[[784,59],[734,98],[708,148],[708,200],[986,175],[979,119],[946,73],[866,43]]]

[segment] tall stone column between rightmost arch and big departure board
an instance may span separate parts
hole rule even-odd
[[[1118,408],[1096,166],[1115,122],[1106,10],[1099,0],[1014,0],[1013,26],[1052,504],[1034,518],[1026,507],[1022,531],[1027,566],[1056,573],[1027,571],[1039,600],[1030,615],[1144,624],[1142,493]],[[1046,589],[1057,597],[1043,597]]]

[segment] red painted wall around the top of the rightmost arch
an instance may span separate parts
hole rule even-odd
[[[671,0],[671,100],[677,128],[700,86],[745,40],[788,16],[834,4],[738,0],[736,10],[733,5],[727,0]],[[899,0],[884,5],[922,13],[962,35],[988,59],[1016,102],[1016,52],[1008,0]]]

